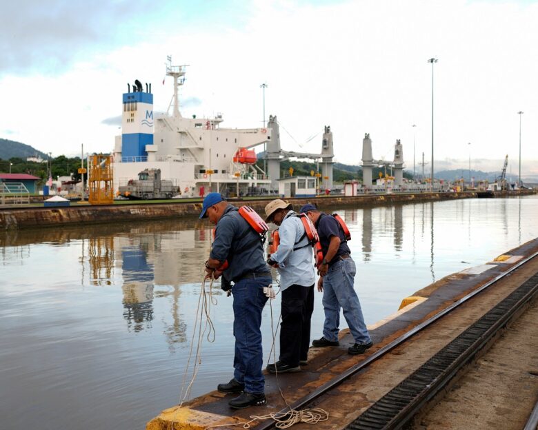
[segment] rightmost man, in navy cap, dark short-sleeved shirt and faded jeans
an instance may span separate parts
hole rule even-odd
[[[355,344],[348,348],[348,354],[363,354],[372,346],[372,339],[366,329],[361,303],[355,292],[355,261],[351,258],[346,236],[334,216],[319,212],[310,203],[301,207],[316,226],[319,243],[323,250],[323,262],[319,266],[317,289],[323,291],[323,337],[312,342],[313,347],[332,347],[339,345],[338,332],[340,309],[346,318]]]

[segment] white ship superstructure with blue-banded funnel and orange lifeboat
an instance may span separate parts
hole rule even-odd
[[[151,85],[139,81],[123,94],[121,136],[114,145],[114,187],[126,185],[144,169],[160,169],[161,178],[182,196],[208,192],[240,195],[270,189],[270,180],[255,165],[251,148],[271,139],[270,127],[223,128],[222,116],[184,118],[178,89],[186,66],[168,66],[174,85],[172,114],[154,115]],[[155,116],[155,118],[154,118]]]

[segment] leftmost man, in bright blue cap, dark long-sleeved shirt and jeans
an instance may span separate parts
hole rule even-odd
[[[215,241],[206,272],[209,276],[222,274],[228,283],[233,282],[235,357],[234,377],[217,389],[223,393],[240,393],[228,402],[234,409],[264,405],[265,380],[261,373],[261,310],[267,296],[263,288],[271,283],[270,268],[263,258],[263,245],[259,233],[250,227],[237,207],[228,204],[219,193],[212,192],[203,199],[200,218],[209,218],[216,224]],[[228,268],[217,270],[225,261]]]

